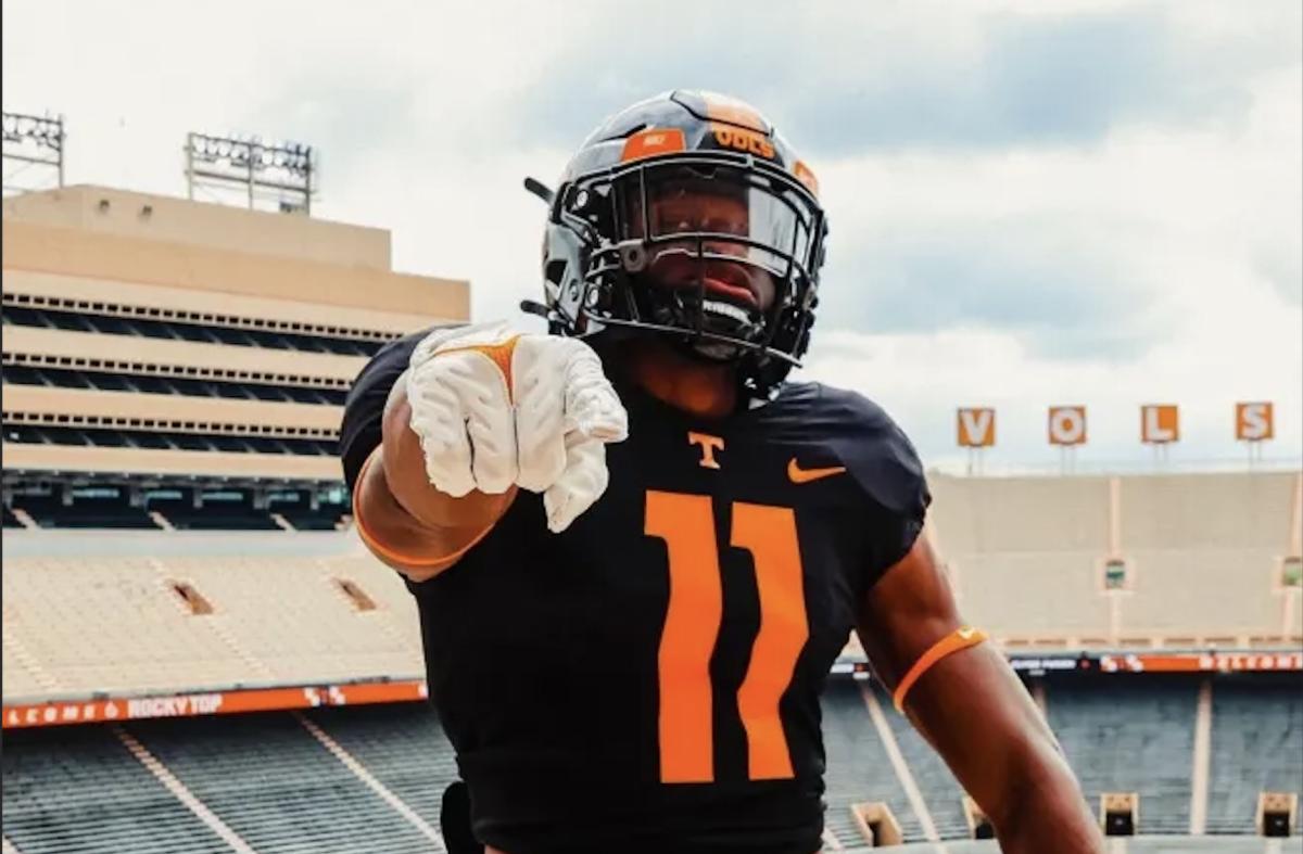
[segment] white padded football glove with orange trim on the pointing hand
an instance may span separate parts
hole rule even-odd
[[[437,329],[405,378],[410,426],[440,492],[542,492],[559,532],[606,491],[605,443],[624,440],[628,415],[582,341],[504,323]]]

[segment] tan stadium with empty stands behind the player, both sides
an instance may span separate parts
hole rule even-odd
[[[7,199],[4,247],[4,850],[443,850],[416,609],[334,440],[469,284],[378,229],[99,186]],[[929,482],[1113,850],[1303,850],[1298,470]],[[826,850],[994,850],[857,644],[823,719]]]

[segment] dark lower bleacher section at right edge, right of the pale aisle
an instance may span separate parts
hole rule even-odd
[[[1208,833],[1252,833],[1263,790],[1303,797],[1303,683],[1296,674],[1216,681],[1212,724]]]

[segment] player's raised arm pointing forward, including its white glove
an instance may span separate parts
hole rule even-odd
[[[606,489],[603,443],[624,439],[627,415],[588,345],[503,324],[437,329],[408,365],[383,415],[375,391],[384,387],[375,384],[351,397],[345,424],[379,420],[379,447],[356,476],[353,516],[366,547],[409,579],[457,562],[517,487],[542,493],[554,532]],[[374,426],[370,436],[374,444]]]

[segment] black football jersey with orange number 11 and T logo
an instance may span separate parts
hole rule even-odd
[[[349,487],[418,338],[349,394]],[[816,383],[718,420],[619,391],[629,437],[568,530],[521,492],[408,585],[476,834],[509,854],[813,854],[820,693],[923,527],[919,458],[878,406]]]

